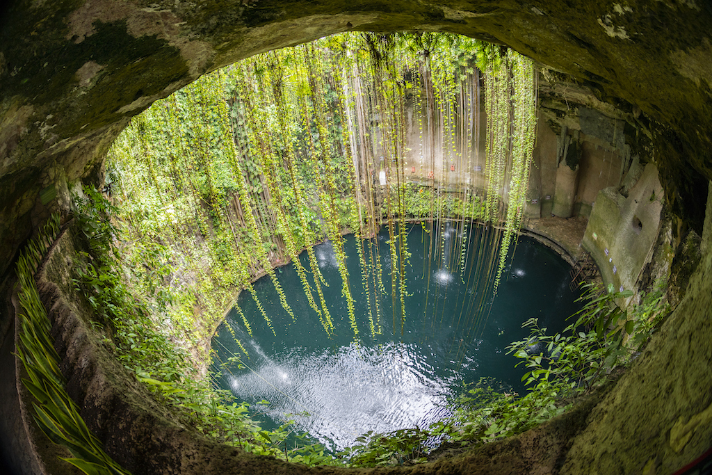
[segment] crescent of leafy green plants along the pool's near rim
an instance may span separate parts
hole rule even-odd
[[[86,193],[88,199],[78,202],[77,224],[90,249],[75,256],[75,286],[93,308],[93,325],[104,335],[105,345],[130,374],[152,388],[157,400],[187,411],[182,423],[253,453],[288,461],[355,466],[414,463],[426,461],[443,442],[471,447],[518,434],[564,412],[572,397],[589,393],[615,367],[627,364],[649,337],[654,319],[664,316],[659,295],[625,312],[615,301],[629,293],[612,289],[600,293],[592,288],[590,303],[564,332],[547,335],[536,320],[530,320],[530,337],[511,345],[511,352],[529,369],[526,395],[518,397],[482,381],[454,402],[459,409],[453,417],[428,428],[364,434],[360,444],[335,458],[308,439],[288,445],[291,422],[275,431],[260,429],[245,416],[246,404],[235,404],[231,395],[192,379],[186,355],[169,343],[166,328],[155,329],[147,302],[137,300],[123,283],[134,278],[126,276],[130,269],[112,250],[112,242],[124,236],[117,234],[105,214],[110,205],[97,192],[87,189]]]

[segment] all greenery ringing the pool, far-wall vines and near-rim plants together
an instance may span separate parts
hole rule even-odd
[[[392,41],[392,38],[375,38],[377,41]],[[451,47],[447,43],[445,45],[445,48]],[[374,51],[379,50],[370,50],[366,58],[372,60]],[[244,416],[246,404],[228,404],[224,399],[226,395],[214,392],[206,382],[196,382],[187,355],[169,343],[172,337],[183,339],[182,332],[194,335],[192,306],[198,294],[185,283],[182,283],[183,286],[161,283],[169,283],[169,278],[179,274],[174,262],[179,259],[185,262],[196,255],[194,250],[200,247],[192,247],[196,239],[204,243],[207,249],[204,255],[209,256],[209,262],[217,263],[206,273],[206,281],[222,279],[222,286],[227,289],[224,295],[229,296],[231,289],[236,287],[246,286],[249,289],[251,279],[257,273],[273,275],[274,261],[293,259],[298,249],[308,247],[310,242],[321,236],[327,236],[338,244],[342,229],[350,228],[366,242],[376,226],[387,225],[391,230],[390,252],[394,263],[391,270],[395,284],[392,298],[397,301],[407,291],[400,277],[408,256],[402,236],[402,219],[414,217],[436,221],[440,217],[455,215],[461,219],[463,226],[471,226],[473,219],[486,217],[495,222],[505,221],[503,232],[511,234],[515,231],[513,226],[518,226],[521,210],[517,205],[525,194],[522,184],[527,182],[530,145],[533,145],[530,142],[532,113],[527,111],[530,106],[533,108],[534,94],[531,81],[527,84],[524,80],[527,86],[524,88],[513,88],[512,84],[522,80],[519,76],[527,77],[528,73],[522,70],[530,68],[530,65],[518,63],[521,60],[516,56],[504,56],[497,60],[505,65],[499,66],[501,69],[496,69],[493,63],[485,67],[486,70],[490,68],[489,75],[501,74],[497,80],[506,84],[501,90],[491,89],[503,97],[493,100],[489,106],[493,117],[498,115],[510,124],[503,127],[502,132],[493,132],[494,137],[490,136],[493,143],[490,147],[493,165],[488,172],[491,182],[496,181],[503,188],[503,177],[508,178],[509,203],[508,207],[504,207],[499,202],[502,192],[497,187],[483,199],[473,199],[473,189],[441,197],[444,193],[434,192],[433,187],[407,184],[402,162],[404,151],[398,137],[403,133],[402,114],[406,96],[398,88],[379,90],[377,85],[379,82],[392,85],[406,83],[407,74],[404,72],[408,69],[396,68],[394,74],[392,69],[389,71],[393,68],[392,63],[387,61],[370,63],[373,71],[383,68],[388,72],[385,76],[375,75],[379,79],[373,82],[376,105],[371,106],[370,114],[375,114],[374,110],[389,111],[381,115],[381,122],[387,127],[380,131],[382,142],[379,147],[384,151],[390,150],[391,155],[387,157],[393,158],[375,162],[375,145],[371,144],[370,150],[369,147],[362,150],[365,165],[359,167],[360,155],[349,153],[357,150],[355,142],[367,140],[368,134],[360,135],[357,127],[349,130],[347,124],[351,116],[348,115],[348,108],[341,106],[339,98],[339,91],[346,88],[337,86],[341,83],[338,83],[336,71],[322,71],[323,65],[329,63],[320,54],[323,55],[323,51],[318,53],[318,50],[307,46],[297,50],[293,56],[286,54],[279,57],[271,53],[256,58],[247,65],[216,74],[210,78],[212,82],[198,83],[192,90],[183,91],[186,97],[182,100],[173,98],[172,102],[159,104],[164,107],[164,113],[159,111],[153,116],[135,120],[127,132],[133,135],[123,137],[123,147],[113,151],[115,157],[126,154],[124,161],[113,162],[117,168],[126,167],[120,170],[124,175],[121,177],[114,170],[113,178],[119,178],[114,181],[110,173],[110,189],[106,190],[115,196],[123,194],[125,198],[130,198],[125,201],[130,211],[120,212],[90,188],[84,190],[85,197],[75,200],[78,229],[90,245],[88,254],[76,258],[75,286],[87,297],[94,310],[95,330],[105,335],[105,344],[112,348],[137,380],[152,387],[162,402],[187,409],[191,414],[189,423],[202,432],[257,454],[279,456],[305,464],[378,466],[424,461],[426,454],[438,442],[468,445],[489,442],[522,432],[560,414],[568,407],[568,398],[589,392],[601,377],[619,364],[619,357],[629,354],[630,349],[623,342],[624,338],[635,333],[636,326],[642,328],[639,334],[643,336],[651,329],[646,319],[625,317],[612,303],[614,298],[619,297],[615,294],[606,293],[595,300],[595,311],[582,315],[562,335],[550,337],[544,329],[538,328],[535,321],[530,322],[533,325],[532,336],[511,347],[531,369],[527,377],[532,390],[527,395],[515,397],[503,394],[483,382],[470,395],[459,400],[460,409],[453,419],[424,430],[406,430],[389,435],[366,434],[363,444],[347,450],[342,454],[343,459],[325,455],[322,447],[309,443],[289,449],[285,443],[289,424],[273,432],[259,429]],[[300,64],[307,71],[307,80],[295,80],[293,89],[286,88],[276,79],[277,76],[282,77],[280,73],[284,74],[284,71],[276,68],[274,61],[287,65]],[[343,66],[339,64],[340,68]],[[460,71],[464,68],[467,73],[466,66],[458,67]],[[270,76],[266,71],[276,76]],[[431,80],[436,83],[432,76]],[[495,79],[492,77],[490,80]],[[228,85],[232,85],[234,90],[230,90]],[[299,90],[306,91],[306,94],[295,94],[291,113],[302,122],[280,120],[284,117],[283,113],[290,110],[290,101],[282,100],[288,95],[285,91],[294,93]],[[325,93],[329,90],[333,93],[331,101]],[[428,88],[424,90],[427,95]],[[514,96],[515,103],[512,103],[511,96],[507,98],[505,95],[512,90],[519,91]],[[451,104],[444,100],[449,94],[457,98],[452,90],[439,91],[438,95],[434,95],[437,100],[432,100],[432,103],[439,100],[445,105]],[[379,106],[379,101],[385,106]],[[426,105],[428,101],[426,98]],[[356,109],[355,105],[351,107]],[[179,108],[192,108],[189,120],[179,120],[173,112]],[[274,115],[271,121],[268,114],[254,112],[271,109]],[[452,137],[446,124],[454,124],[456,115],[447,107],[437,110],[439,119],[428,126],[434,127],[432,124],[437,123],[444,127],[444,137]],[[390,111],[393,111],[392,114]],[[201,121],[200,116],[211,120]],[[513,122],[509,122],[511,116]],[[353,117],[357,118],[357,115],[354,113]],[[243,120],[244,127],[229,127],[229,120]],[[340,127],[328,130],[327,123]],[[290,137],[285,132],[296,128],[295,124],[306,131],[300,129]],[[463,127],[463,124],[459,126]],[[174,130],[178,130],[179,134],[169,133]],[[506,142],[509,139],[503,140],[496,135],[500,133],[508,137],[506,134],[511,131],[515,137],[511,153],[518,158],[513,165],[508,165],[510,145]],[[325,140],[325,137],[330,137],[330,140]],[[168,147],[171,141],[177,147]],[[300,147],[303,149],[300,150]],[[452,150],[456,153],[457,149],[453,147]],[[339,151],[345,155],[337,153]],[[250,164],[253,166],[252,174],[249,172]],[[299,165],[303,169],[299,170]],[[369,176],[376,166],[386,172],[387,184],[376,185]],[[304,177],[295,178],[300,177],[300,173]],[[360,174],[366,175],[369,186],[382,187],[378,190],[380,194],[359,189]],[[126,180],[127,176],[133,181]],[[289,194],[290,191],[292,194]],[[420,214],[420,211],[414,211],[417,207],[410,208],[409,204],[422,201],[418,195],[424,193],[434,193],[431,196],[435,199],[425,199],[424,202],[430,201],[431,206],[429,212],[423,209]],[[455,199],[459,199],[459,204],[453,204]],[[450,204],[446,206],[448,202]],[[482,204],[473,206],[470,203]],[[370,209],[375,211],[369,212]],[[313,214],[311,220],[308,219],[308,212]],[[226,220],[224,216],[227,216]],[[111,224],[112,220],[120,225],[118,228],[125,223],[129,225],[118,229]],[[185,230],[192,231],[192,234],[183,236]],[[244,236],[240,236],[240,231]],[[362,269],[365,269],[364,288],[369,296],[375,296],[373,308],[377,308],[378,298],[383,296],[369,290],[369,286],[377,288],[377,278],[369,274],[374,269],[367,268],[368,253],[372,252],[367,242],[362,252],[360,261]],[[253,259],[239,261],[241,256],[246,255]],[[495,258],[496,251],[491,254],[489,265],[503,265],[501,259]],[[194,264],[184,265],[191,270]],[[318,271],[318,266],[315,268]],[[312,268],[314,275],[313,282],[310,282],[306,269],[302,271],[300,278],[303,279],[304,291],[310,295],[313,286],[318,286],[318,274]],[[347,274],[342,273],[342,278],[347,281]],[[273,278],[273,283],[278,287],[276,278]],[[347,293],[344,296],[350,298]],[[209,298],[205,300],[209,301]],[[288,308],[286,298],[283,300],[283,306]],[[213,301],[212,305],[217,303],[219,301]],[[317,298],[312,298],[310,304],[315,310],[320,308]],[[268,318],[268,315],[263,316]],[[377,330],[379,315],[375,312],[372,316],[370,331],[373,332]],[[404,318],[404,315],[394,314],[393,318],[395,322],[396,318]],[[323,314],[322,323],[328,332],[328,314]],[[249,323],[245,324],[249,328]],[[580,328],[585,331],[580,331]],[[615,331],[609,332],[608,328]],[[354,328],[354,333],[358,334],[357,328]],[[535,345],[546,348],[533,349]]]

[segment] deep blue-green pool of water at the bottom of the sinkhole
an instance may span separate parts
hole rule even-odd
[[[554,251],[521,238],[498,294],[491,298],[477,266],[478,255],[492,245],[486,229],[473,227],[466,232],[468,259],[461,272],[457,267],[463,233],[449,222],[441,226],[431,232],[419,224],[408,228],[412,256],[406,272],[407,317],[402,330],[400,310],[394,318],[391,305],[387,229],[378,236],[385,292],[379,296],[382,312],[377,326],[381,333],[375,337],[370,334],[355,239],[347,236],[345,251],[352,295],[357,299],[358,340],[341,296],[333,248],[328,242],[320,244],[315,252],[329,283],[324,291],[334,334],[327,335],[308,306],[293,265],[284,266],[278,270],[278,278],[296,320],[281,307],[268,278],[257,281],[254,288],[277,336],[263,323],[250,294],[242,293],[238,305],[251,323],[253,335],[248,335],[235,310],[224,325],[233,328],[249,357],[244,357],[221,325],[212,343],[214,370],[221,372],[216,384],[230,389],[239,401],[253,404],[268,400],[271,404],[253,405],[266,427],[295,419],[298,429],[337,449],[352,445],[358,435],[369,430],[427,427],[451,412],[446,407],[449,398],[481,377],[522,393],[520,377],[525,370],[514,367],[518,360],[506,354],[506,346],[528,335],[521,324],[531,317],[539,318],[540,325],[551,332],[565,327],[565,318],[578,309],[577,294],[569,290],[570,267]],[[444,241],[431,244],[430,236],[444,236]],[[306,253],[300,259],[308,269]],[[316,293],[314,296],[318,301]],[[396,297],[399,304],[398,293]],[[238,362],[219,368],[216,362],[233,355],[241,356],[243,368]],[[293,415],[299,413],[308,415]]]

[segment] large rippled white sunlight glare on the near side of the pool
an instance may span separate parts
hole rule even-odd
[[[271,402],[261,411],[275,419],[307,412],[290,417],[337,449],[352,444],[364,427],[375,432],[388,432],[393,424],[426,427],[447,412],[447,382],[419,362],[415,345],[352,343],[335,354],[294,348],[283,356],[260,358],[253,371],[229,377],[231,390],[244,399],[261,395]]]

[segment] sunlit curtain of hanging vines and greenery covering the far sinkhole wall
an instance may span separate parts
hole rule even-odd
[[[448,182],[456,158],[469,164],[462,174],[474,182],[481,74],[493,98],[488,137],[496,142],[486,161],[488,190]],[[458,218],[464,234],[473,232],[476,219],[502,223],[501,249],[493,246],[478,258],[496,268],[486,285],[496,291],[523,212],[535,124],[533,76],[531,62],[516,53],[444,33],[343,34],[217,71],[132,120],[112,147],[108,177],[122,203],[128,241],[152,242],[151,249],[124,246],[122,252],[139,267],[147,255],[171,263],[171,273],[145,277],[170,280],[168,317],[184,332],[179,338],[193,345],[205,344],[237,289],[253,293],[256,276],[270,276],[290,311],[273,271],[288,260],[331,331],[311,251],[325,238],[335,246],[357,337],[365,329],[352,315],[341,251],[346,229],[360,242],[371,333],[383,317],[379,301],[387,298],[368,239],[380,226],[389,229],[390,298],[401,304],[393,306],[392,318],[401,326],[409,255],[404,220],[427,221],[434,229],[440,218]],[[407,109],[423,111],[416,114],[421,153],[409,167]],[[436,162],[436,149],[447,160]],[[426,182],[409,182],[417,167],[429,169]],[[434,249],[442,246],[438,229],[431,240]],[[464,253],[466,242],[463,268],[464,259],[473,259]],[[295,259],[301,249],[308,250],[309,269]],[[197,324],[195,310],[201,313]]]

